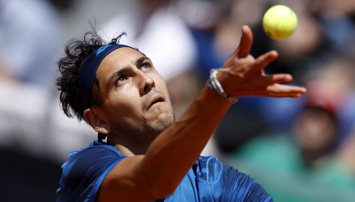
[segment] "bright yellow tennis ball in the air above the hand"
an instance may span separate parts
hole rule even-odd
[[[276,5],[269,8],[263,17],[265,33],[272,39],[284,40],[290,37],[297,27],[297,16],[291,8]]]

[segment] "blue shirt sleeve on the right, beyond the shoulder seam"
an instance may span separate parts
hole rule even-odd
[[[200,158],[214,201],[272,202],[267,192],[249,175],[224,165],[214,156]],[[202,170],[203,171],[203,170]],[[202,172],[204,173],[204,172]]]

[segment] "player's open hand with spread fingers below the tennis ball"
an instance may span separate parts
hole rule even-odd
[[[278,57],[276,51],[269,51],[253,58],[250,55],[252,44],[252,31],[247,26],[242,27],[243,36],[237,50],[223,64],[222,68],[230,71],[219,71],[218,81],[225,92],[232,97],[242,96],[268,96],[298,98],[306,94],[306,88],[299,86],[282,85],[290,83],[290,74],[266,75],[263,68]]]

